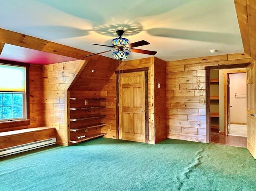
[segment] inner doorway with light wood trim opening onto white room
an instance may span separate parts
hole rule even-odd
[[[220,134],[246,137],[246,68],[220,70]]]

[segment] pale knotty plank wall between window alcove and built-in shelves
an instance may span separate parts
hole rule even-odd
[[[55,63],[43,66],[42,72],[42,108],[45,125],[57,130],[56,144],[68,145],[65,127],[64,89],[69,85],[80,60]]]

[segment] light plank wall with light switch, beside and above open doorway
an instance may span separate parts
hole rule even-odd
[[[166,64],[167,138],[206,142],[205,66],[254,61],[245,53],[169,61]]]

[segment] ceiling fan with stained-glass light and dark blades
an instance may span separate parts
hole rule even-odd
[[[110,52],[110,51],[114,51],[112,53],[112,55],[116,59],[124,60],[124,59],[126,59],[129,56],[129,52],[136,52],[136,53],[149,54],[149,55],[155,55],[157,53],[156,51],[142,50],[142,49],[135,49],[134,48],[134,47],[150,44],[147,41],[141,40],[141,41],[129,44],[129,40],[128,39],[121,37],[124,34],[123,30],[117,30],[116,33],[117,33],[117,35],[119,37],[115,38],[115,39],[112,39],[112,41],[111,41],[112,42],[112,46],[101,45],[101,44],[92,44],[92,45],[111,47],[111,48],[113,48],[112,50],[108,50],[108,51],[104,51],[104,52],[100,52],[100,53],[95,53],[95,54],[90,54],[90,55],[87,55],[85,57],[96,55],[96,54],[102,54],[102,53],[106,53],[106,52]]]

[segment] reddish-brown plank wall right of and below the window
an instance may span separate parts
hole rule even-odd
[[[1,125],[0,132],[45,126],[42,114],[42,66],[30,65],[29,75],[30,125],[24,126],[23,122],[15,127],[5,124]]]

